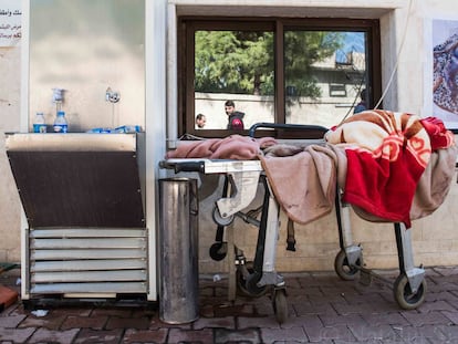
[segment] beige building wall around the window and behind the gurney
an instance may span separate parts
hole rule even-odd
[[[180,12],[217,12],[223,7],[226,13],[238,15],[240,9],[246,15],[269,15],[283,13],[292,15],[298,8],[311,15],[333,17],[371,17],[381,19],[382,33],[382,72],[383,87],[387,88],[384,107],[393,111],[406,111],[421,116],[431,114],[430,76],[430,19],[443,18],[457,20],[458,2],[452,0],[392,0],[362,1],[345,0],[222,0],[215,4],[209,0],[163,0],[147,1],[146,33],[146,129],[157,133],[163,140],[176,139],[176,56],[174,56],[175,14]],[[237,12],[239,10],[239,12]],[[455,13],[455,17],[454,17]],[[407,15],[408,14],[408,15]],[[167,28],[168,25],[168,28]],[[406,29],[406,31],[405,31]],[[405,33],[404,33],[405,32]],[[149,42],[149,43],[148,43]],[[154,42],[153,44],[150,44]],[[21,127],[20,110],[20,61],[21,41],[14,46],[0,48],[0,132],[17,132]],[[156,44],[158,43],[158,44]],[[169,55],[166,55],[168,51]],[[400,51],[400,53],[398,53]],[[395,66],[397,70],[392,73]],[[154,74],[154,75],[153,75]],[[174,88],[175,87],[175,88]],[[166,118],[168,125],[166,125]],[[156,138],[157,139],[157,138]],[[147,142],[155,144],[155,142]],[[152,159],[157,163],[163,158],[165,143],[157,143],[158,149]],[[0,261],[20,260],[21,206],[18,191],[11,177],[4,153],[4,140],[0,140]],[[158,177],[165,176],[158,171]],[[197,177],[197,176],[196,176]],[[204,189],[201,192],[204,195]],[[227,269],[222,262],[209,258],[208,250],[215,240],[216,225],[211,219],[215,200],[220,189],[210,192],[201,201],[200,220],[200,268],[201,272],[216,272]],[[157,197],[149,191],[148,197]],[[434,215],[414,221],[413,246],[415,262],[425,265],[458,263],[458,185],[452,181],[450,194],[441,208]],[[148,211],[154,211],[149,209]],[[147,211],[147,212],[148,212]],[[352,215],[352,228],[355,242],[361,242],[364,258],[369,268],[396,268],[397,252],[394,241],[393,225],[371,223]],[[332,270],[339,251],[339,236],[335,213],[323,217],[308,226],[296,226],[296,251],[285,251],[285,219],[281,215],[281,232],[278,244],[278,270]],[[258,229],[240,220],[235,222],[236,243],[242,248],[248,258],[253,257]]]

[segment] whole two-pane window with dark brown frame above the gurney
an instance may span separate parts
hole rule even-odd
[[[229,118],[331,127],[381,95],[377,20],[180,18],[178,37],[180,135],[227,136]]]

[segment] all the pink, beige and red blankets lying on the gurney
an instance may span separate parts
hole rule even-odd
[[[336,185],[366,220],[407,228],[448,194],[457,147],[438,118],[365,111],[332,128],[325,140],[285,145],[231,135],[183,144],[166,158],[260,159],[277,201],[303,225],[332,210]]]

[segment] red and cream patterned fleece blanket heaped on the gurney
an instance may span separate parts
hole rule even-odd
[[[343,201],[407,228],[417,183],[431,150],[454,145],[454,135],[439,119],[388,111],[356,114],[333,128],[326,139],[346,144]]]

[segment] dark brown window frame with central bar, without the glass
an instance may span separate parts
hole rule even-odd
[[[178,67],[178,135],[190,134],[199,137],[226,137],[231,134],[248,134],[229,129],[196,129],[195,128],[195,88],[194,59],[195,32],[197,30],[247,30],[272,31],[274,34],[274,122],[285,123],[284,94],[284,61],[283,35],[287,30],[310,31],[361,31],[366,32],[366,50],[369,61],[366,62],[367,85],[369,87],[368,103],[374,106],[374,100],[382,95],[381,71],[381,32],[378,19],[336,19],[336,18],[228,18],[228,17],[194,17],[178,18],[177,30],[177,67]],[[381,106],[382,107],[382,106]],[[257,131],[260,136],[272,135],[272,131]],[[288,137],[288,133],[284,134]],[[273,135],[278,136],[278,135]]]

